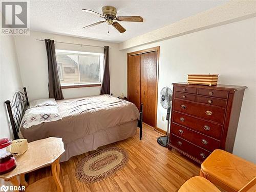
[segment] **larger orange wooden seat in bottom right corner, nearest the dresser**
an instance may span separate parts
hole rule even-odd
[[[215,150],[201,164],[200,176],[236,192],[256,177],[256,165],[223,150]]]

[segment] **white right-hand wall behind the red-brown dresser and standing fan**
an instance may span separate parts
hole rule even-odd
[[[233,153],[256,162],[256,17],[147,44],[126,53],[160,46],[159,89],[184,82],[187,74],[220,74],[220,84],[246,85]],[[126,60],[125,60],[126,63]],[[158,102],[157,127],[166,130]]]

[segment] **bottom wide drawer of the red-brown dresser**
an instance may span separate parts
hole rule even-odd
[[[170,143],[172,143],[172,145],[175,146],[176,148],[197,158],[200,161],[204,161],[210,155],[210,152],[208,152],[200,147],[197,147],[197,146],[193,145],[192,143],[190,143],[182,138],[179,138],[173,134],[170,138]]]

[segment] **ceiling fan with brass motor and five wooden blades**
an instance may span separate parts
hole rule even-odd
[[[112,25],[114,28],[117,29],[120,33],[123,33],[126,31],[117,21],[132,21],[132,22],[143,22],[143,18],[141,16],[116,16],[116,8],[112,6],[104,6],[102,7],[102,14],[97,13],[90,9],[82,9],[83,11],[86,11],[88,13],[93,13],[95,15],[100,16],[101,18],[104,18],[105,20],[95,22],[89,26],[83,27],[83,28],[89,28],[92,26],[96,26],[100,23],[107,22],[109,25]]]

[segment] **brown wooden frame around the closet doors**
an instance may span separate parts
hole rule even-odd
[[[157,127],[157,104],[158,104],[158,77],[159,77],[159,53],[160,53],[160,46],[155,46],[155,47],[151,47],[145,50],[140,50],[140,51],[136,51],[136,52],[131,52],[131,53],[127,53],[127,99],[129,101],[129,56],[132,55],[139,55],[139,54],[143,54],[143,53],[149,53],[149,52],[157,52],[157,71],[156,71],[156,106],[155,106],[155,119],[154,119],[154,125],[155,125],[155,129]],[[140,101],[141,102],[141,101]]]

